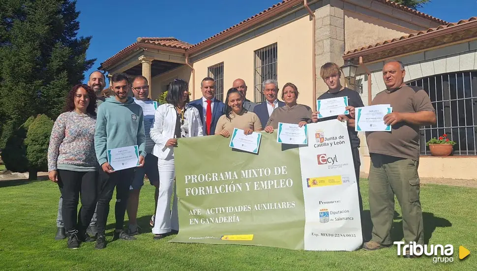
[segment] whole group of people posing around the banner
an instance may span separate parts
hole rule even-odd
[[[355,107],[363,102],[358,92],[340,84],[338,65],[326,63],[320,75],[328,91],[318,100],[348,97],[348,115],[318,118],[306,105],[298,104],[298,87],[286,83],[278,100],[278,83],[263,82],[264,102],[246,99],[245,81],[237,79],[227,91],[224,102],[215,98],[215,82],[206,77],[201,82],[202,98],[189,102],[188,83],[175,79],[168,88],[166,103],[157,107],[153,118],[144,118],[138,101],[151,101],[149,83],[143,76],[128,81],[125,74],[114,74],[111,90],[114,96],[104,99],[98,95],[104,88],[104,75],[95,71],[87,85],[76,85],[69,92],[64,113],[57,118],[48,150],[50,179],[60,187],[56,239],[68,237],[68,247],[96,240],[96,248],[106,247],[105,226],[109,203],[116,188],[116,229],[114,238],[134,240],[139,233],[137,210],[139,193],[145,174],[155,186],[155,212],[150,225],[154,239],[179,231],[177,197],[174,193],[174,147],[178,138],[222,135],[229,137],[234,128],[245,134],[265,131],[273,133],[278,123],[302,127],[318,121],[346,121],[350,136],[359,209],[359,145],[355,132]],[[418,130],[421,125],[435,123],[434,108],[426,92],[404,84],[405,70],[400,61],[388,61],[383,68],[387,89],[374,98],[372,104],[390,104],[392,113],[384,122],[392,132],[367,132],[366,140],[371,158],[369,171],[369,204],[373,222],[372,238],[363,249],[376,250],[391,245],[390,228],[394,214],[394,195],[402,209],[406,242],[423,242],[422,212],[419,202]],[[128,96],[132,89],[134,98]],[[97,97],[98,96],[98,97]],[[97,104],[101,102],[100,106]],[[316,102],[316,101],[315,101]],[[139,104],[138,104],[139,103]],[[97,112],[97,113],[96,113]],[[106,150],[138,145],[139,165],[133,169],[114,170],[108,163]],[[79,214],[77,205],[81,194]],[[170,209],[173,198],[172,212]],[[129,225],[123,230],[127,211]],[[409,257],[409,254],[407,254]]]

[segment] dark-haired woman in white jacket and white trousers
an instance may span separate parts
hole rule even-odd
[[[176,177],[174,147],[177,146],[177,138],[203,135],[199,110],[187,105],[189,102],[187,82],[175,79],[169,85],[166,102],[154,113],[154,124],[150,130],[150,137],[155,143],[152,154],[158,158],[159,169],[159,197],[152,228],[154,239],[161,239],[179,231],[176,193],[172,214],[170,212]]]

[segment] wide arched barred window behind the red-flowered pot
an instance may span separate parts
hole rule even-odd
[[[420,153],[430,155],[425,143],[447,134],[456,142],[454,155],[477,155],[477,70],[429,76],[408,85],[422,87],[437,114],[435,125],[420,128]]]

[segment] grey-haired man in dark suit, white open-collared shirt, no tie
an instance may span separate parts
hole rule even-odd
[[[265,102],[262,102],[253,108],[253,112],[257,114],[262,123],[262,126],[268,122],[268,118],[278,107],[284,106],[285,102],[278,101],[278,83],[274,79],[265,80],[263,83],[263,90],[265,95]]]

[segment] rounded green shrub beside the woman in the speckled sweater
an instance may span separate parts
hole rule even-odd
[[[35,171],[48,171],[48,145],[53,124],[49,117],[42,114],[38,115],[28,128],[25,146],[30,174]]]

